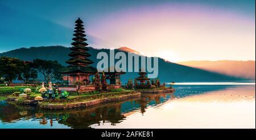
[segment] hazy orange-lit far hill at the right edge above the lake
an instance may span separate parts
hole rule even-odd
[[[255,80],[255,61],[185,61],[180,65],[195,67],[234,77],[244,77]]]

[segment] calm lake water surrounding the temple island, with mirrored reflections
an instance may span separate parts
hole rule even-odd
[[[173,94],[146,94],[62,111],[40,111],[0,100],[0,128],[255,128],[255,82],[176,83],[174,87]]]

